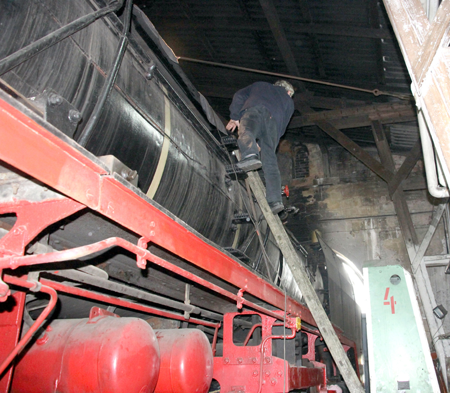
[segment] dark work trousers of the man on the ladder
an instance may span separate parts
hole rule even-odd
[[[238,135],[241,159],[260,153],[267,202],[282,202],[280,170],[275,154],[278,145],[277,122],[264,106],[254,106],[242,114]],[[257,140],[261,152],[258,151]]]

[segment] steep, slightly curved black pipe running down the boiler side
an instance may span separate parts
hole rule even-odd
[[[122,31],[122,36],[120,37],[119,45],[116,50],[113,66],[111,67],[111,70],[109,71],[108,76],[106,77],[105,83],[102,87],[102,91],[100,92],[98,101],[95,104],[95,108],[91,114],[91,117],[87,121],[87,124],[84,127],[83,132],[78,138],[77,142],[83,147],[87,145],[89,138],[91,138],[94,128],[97,125],[97,122],[100,119],[100,115],[103,112],[103,108],[111,91],[111,88],[113,87],[114,82],[116,81],[117,73],[119,71],[119,67],[122,63],[123,55],[125,54],[125,49],[128,44],[128,31],[130,29],[132,4],[133,4],[132,0],[127,0],[124,15],[124,27]]]

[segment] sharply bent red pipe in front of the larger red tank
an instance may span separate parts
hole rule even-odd
[[[20,287],[25,288],[33,288],[36,286],[37,283],[33,283],[30,281],[18,279],[17,277],[6,275],[4,276],[5,282],[13,285],[17,285]],[[25,345],[27,345],[28,341],[30,340],[31,336],[36,332],[36,330],[39,329],[39,327],[42,325],[42,322],[44,319],[47,318],[47,316],[50,314],[50,312],[53,310],[53,308],[56,305],[56,301],[58,300],[58,295],[56,291],[53,288],[50,288],[48,286],[42,285],[39,289],[39,292],[47,293],[50,295],[50,302],[47,305],[47,307],[41,312],[41,314],[38,316],[36,321],[33,323],[31,328],[25,333],[24,337],[17,343],[15,348],[11,351],[11,353],[8,355],[8,357],[3,361],[2,365],[0,365],[0,375],[5,371],[6,367],[11,363],[11,361],[22,351],[22,349],[25,348]]]

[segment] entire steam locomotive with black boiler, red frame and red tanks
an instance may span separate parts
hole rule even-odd
[[[0,391],[341,383],[233,138],[147,17],[17,0],[0,24]]]

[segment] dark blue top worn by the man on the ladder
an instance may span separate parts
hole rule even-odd
[[[278,125],[278,139],[286,131],[292,113],[294,101],[284,87],[274,86],[267,82],[255,82],[235,93],[230,105],[230,119],[240,120],[245,109],[262,105],[275,118]]]

